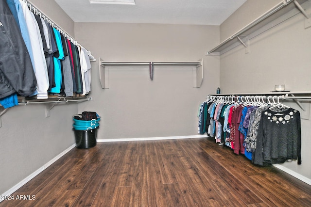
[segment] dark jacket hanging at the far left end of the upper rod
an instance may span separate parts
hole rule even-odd
[[[0,0],[0,98],[35,92],[36,79],[31,59],[17,22],[6,0]]]

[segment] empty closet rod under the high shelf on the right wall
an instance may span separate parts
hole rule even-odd
[[[271,8],[270,10],[268,10],[266,13],[264,13],[263,15],[259,16],[258,18],[256,18],[254,21],[252,21],[251,23],[249,23],[248,25],[246,25],[245,27],[243,27],[241,30],[239,30],[238,32],[234,33],[232,36],[228,37],[227,39],[225,39],[222,43],[220,43],[218,46],[216,46],[215,48],[212,48],[211,50],[209,50],[207,52],[207,55],[214,52],[215,50],[217,50],[218,48],[221,48],[223,45],[225,45],[227,42],[231,41],[232,39],[234,39],[235,37],[241,35],[243,32],[247,31],[248,29],[250,29],[251,27],[255,26],[256,24],[258,24],[259,22],[261,22],[262,20],[264,20],[265,18],[273,15],[274,13],[276,13],[278,10],[280,10],[281,8],[283,8],[284,6],[287,6],[289,3],[291,3],[293,0],[282,0],[281,2],[279,2],[278,4],[276,4],[273,8]]]

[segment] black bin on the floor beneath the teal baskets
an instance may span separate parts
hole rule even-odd
[[[96,146],[97,128],[89,130],[76,130],[73,128],[73,130],[77,148],[88,149]]]

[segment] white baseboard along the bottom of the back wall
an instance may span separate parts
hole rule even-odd
[[[207,135],[173,136],[173,137],[141,137],[141,138],[120,138],[120,139],[97,139],[98,143],[107,142],[130,142],[130,141],[153,141],[153,140],[176,140],[207,138]]]

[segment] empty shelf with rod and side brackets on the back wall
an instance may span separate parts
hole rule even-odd
[[[136,62],[108,62],[103,61],[103,59],[99,59],[99,79],[103,89],[109,88],[109,71],[105,66],[107,65],[149,65],[150,71],[153,70],[154,65],[190,65],[195,66],[193,68],[193,87],[199,88],[201,87],[203,81],[203,60],[194,61],[194,62],[146,62],[146,61],[136,61]],[[152,67],[152,70],[151,68]],[[153,73],[153,72],[150,72]],[[150,74],[153,77],[153,74]],[[152,78],[153,79],[153,78]]]

